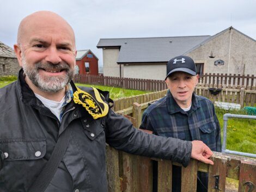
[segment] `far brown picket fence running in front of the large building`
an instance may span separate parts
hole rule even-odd
[[[241,86],[246,89],[256,86],[256,76],[254,75],[236,75],[236,74],[220,74],[209,73],[200,77],[199,83],[205,87],[210,85],[222,86]],[[138,89],[144,91],[162,91],[167,89],[164,80],[150,79],[132,79],[132,78],[117,78],[103,75],[75,75],[74,81],[82,84],[105,85],[114,87],[123,87],[127,89]]]

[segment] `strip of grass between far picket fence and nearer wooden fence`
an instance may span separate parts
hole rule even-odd
[[[134,95],[149,93],[149,91],[123,89],[123,88],[119,88],[119,87],[108,87],[108,86],[87,85],[87,84],[76,84],[76,85],[77,86],[85,86],[85,87],[93,86],[95,88],[101,89],[102,91],[109,91],[111,99],[119,99],[119,98],[125,98],[125,97],[134,96]]]

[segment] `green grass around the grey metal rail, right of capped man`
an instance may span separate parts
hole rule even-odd
[[[216,114],[221,125],[223,134],[223,114],[246,114],[242,110],[222,110],[216,107]],[[222,135],[223,140],[223,135]],[[229,118],[227,123],[226,149],[247,153],[256,153],[256,120]]]

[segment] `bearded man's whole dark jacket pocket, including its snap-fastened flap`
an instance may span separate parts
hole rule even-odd
[[[0,150],[4,153],[0,170],[3,191],[27,191],[45,165],[46,139],[3,139]]]

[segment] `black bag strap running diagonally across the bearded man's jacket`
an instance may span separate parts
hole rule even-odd
[[[43,192],[51,182],[54,174],[58,169],[59,163],[62,161],[66,148],[68,147],[73,129],[69,127],[58,138],[57,143],[53,149],[52,155],[35,182],[29,188],[29,192]]]

